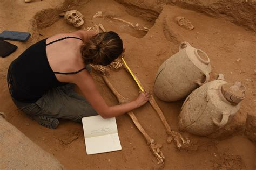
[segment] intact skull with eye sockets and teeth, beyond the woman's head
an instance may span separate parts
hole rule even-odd
[[[64,19],[75,27],[79,27],[84,24],[84,20],[82,19],[83,17],[82,13],[77,10],[66,11],[64,15]]]

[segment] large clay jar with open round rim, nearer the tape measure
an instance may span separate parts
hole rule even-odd
[[[188,42],[182,42],[179,52],[167,59],[158,69],[154,94],[163,101],[177,101],[209,81],[210,59]]]

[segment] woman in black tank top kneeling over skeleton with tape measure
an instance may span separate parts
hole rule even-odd
[[[19,109],[50,129],[57,118],[81,122],[83,117],[115,117],[145,104],[140,93],[129,103],[109,106],[97,90],[89,64],[109,65],[123,52],[118,34],[76,31],[43,39],[26,49],[8,70],[8,86]],[[73,90],[76,84],[83,95]]]

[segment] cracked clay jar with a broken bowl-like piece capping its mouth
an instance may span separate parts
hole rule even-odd
[[[207,136],[225,126],[239,110],[245,98],[240,82],[227,83],[223,74],[194,90],[185,100],[178,128],[188,133]]]

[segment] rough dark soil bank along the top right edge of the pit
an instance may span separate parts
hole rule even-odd
[[[207,15],[225,18],[230,22],[245,26],[255,32],[256,29],[256,1],[255,0],[117,0],[120,3],[137,8],[152,9],[159,12],[163,5],[171,4],[181,8],[204,12]]]

